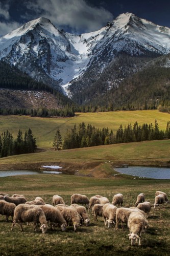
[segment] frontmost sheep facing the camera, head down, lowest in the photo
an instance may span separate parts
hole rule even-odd
[[[148,221],[143,218],[143,215],[140,212],[133,211],[131,212],[129,219],[128,219],[128,227],[130,233],[128,234],[129,239],[131,239],[131,245],[135,245],[135,241],[139,239],[145,227],[149,227]]]

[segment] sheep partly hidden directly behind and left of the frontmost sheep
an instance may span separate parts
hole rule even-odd
[[[118,224],[121,222],[122,228],[124,228],[123,223],[128,223],[129,216],[135,209],[130,209],[126,207],[117,208],[116,210],[116,229],[118,229]]]

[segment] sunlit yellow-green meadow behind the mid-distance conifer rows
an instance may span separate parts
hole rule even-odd
[[[117,111],[117,112],[100,112],[100,113],[77,113],[75,117],[69,118],[39,118],[28,116],[0,116],[0,132],[7,129],[14,137],[20,129],[23,133],[32,129],[33,135],[37,140],[37,146],[43,148],[52,148],[55,132],[59,127],[62,136],[66,131],[71,129],[75,124],[84,122],[99,127],[108,127],[113,132],[117,131],[120,124],[128,125],[128,123],[138,122],[153,123],[157,119],[160,130],[166,129],[167,121],[170,116],[167,113],[160,113],[157,110],[149,111]]]

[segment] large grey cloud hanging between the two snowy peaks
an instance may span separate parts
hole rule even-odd
[[[108,10],[85,0],[36,0],[27,2],[27,8],[49,18],[57,27],[66,26],[77,32],[98,30],[113,19]]]

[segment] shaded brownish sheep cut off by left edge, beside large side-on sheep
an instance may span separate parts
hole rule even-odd
[[[8,203],[5,200],[0,200],[0,214],[6,216],[6,221],[8,221],[9,216],[11,216],[13,220],[15,207],[16,205],[14,203]]]

